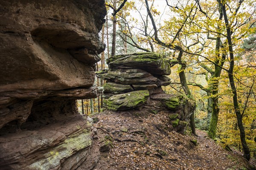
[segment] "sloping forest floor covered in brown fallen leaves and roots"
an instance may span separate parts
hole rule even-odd
[[[182,135],[166,130],[167,113],[105,111],[92,116],[94,148],[102,151],[94,170],[255,170],[241,153],[224,150],[204,131]],[[99,152],[99,151],[98,151]]]

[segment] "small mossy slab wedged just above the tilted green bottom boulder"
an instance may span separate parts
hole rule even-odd
[[[107,82],[103,86],[104,93],[122,94],[134,91],[131,85],[122,85],[115,82]]]

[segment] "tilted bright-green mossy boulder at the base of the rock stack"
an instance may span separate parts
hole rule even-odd
[[[107,109],[111,111],[125,111],[143,105],[149,96],[148,90],[132,91],[125,94],[111,96],[107,102]]]

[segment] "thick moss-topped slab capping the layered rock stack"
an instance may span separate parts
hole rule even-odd
[[[153,75],[169,75],[171,68],[161,54],[154,52],[122,54],[108,59],[109,68],[141,68]]]

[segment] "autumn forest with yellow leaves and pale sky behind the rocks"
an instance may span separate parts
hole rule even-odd
[[[196,101],[195,126],[223,147],[256,156],[256,1],[106,0],[97,71],[111,56],[163,54],[172,66],[166,93]],[[104,82],[96,78],[95,84]],[[77,101],[82,114],[99,113],[102,96]],[[241,142],[242,141],[242,142]]]

